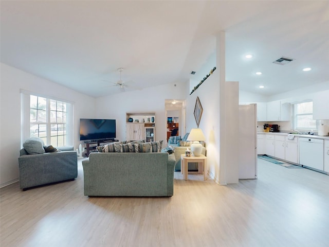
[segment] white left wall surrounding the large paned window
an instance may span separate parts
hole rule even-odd
[[[3,63],[1,63],[0,83],[0,186],[3,187],[17,181],[19,177],[21,89],[74,102],[75,148],[79,145],[80,138],[79,119],[95,117],[95,99]]]

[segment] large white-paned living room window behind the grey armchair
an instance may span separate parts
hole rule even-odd
[[[22,92],[22,143],[28,137],[40,137],[54,147],[73,143],[73,104]]]

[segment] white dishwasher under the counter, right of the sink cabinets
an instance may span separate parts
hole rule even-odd
[[[299,163],[323,171],[324,139],[299,137]]]

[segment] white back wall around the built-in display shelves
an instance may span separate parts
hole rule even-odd
[[[186,98],[188,86],[188,82],[182,82],[100,97],[96,99],[96,115],[116,119],[117,139],[124,140],[126,112],[155,112],[155,139],[166,140],[165,100]]]

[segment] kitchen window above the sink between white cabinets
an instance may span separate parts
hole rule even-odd
[[[318,122],[313,120],[313,102],[294,104],[294,129],[317,130]]]

